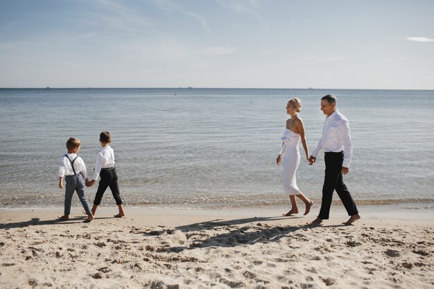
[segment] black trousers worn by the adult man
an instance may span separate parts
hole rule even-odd
[[[327,220],[329,218],[331,199],[333,198],[333,191],[336,190],[340,200],[345,206],[349,216],[358,213],[356,204],[354,203],[347,186],[345,186],[342,179],[342,161],[344,161],[343,152],[326,152],[324,155],[326,165],[324,185],[322,186],[322,202],[318,218]]]

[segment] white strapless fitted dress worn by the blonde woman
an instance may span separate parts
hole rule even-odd
[[[300,134],[286,129],[281,141],[283,141],[280,155],[283,164],[284,193],[285,195],[299,195],[302,192],[298,189],[295,173],[300,165],[300,151],[298,150]]]

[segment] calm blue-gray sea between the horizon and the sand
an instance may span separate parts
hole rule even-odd
[[[313,150],[324,120],[320,98],[329,93],[350,121],[354,157],[345,182],[353,197],[433,204],[434,91],[0,89],[0,208],[62,207],[57,171],[67,139],[83,142],[80,156],[92,170],[103,130],[112,133],[130,207],[287,204],[275,164],[286,101],[302,100]],[[314,166],[302,159],[297,182],[306,195],[320,198],[323,176],[322,155]],[[87,189],[91,201],[95,192]],[[114,206],[108,191],[103,205]]]

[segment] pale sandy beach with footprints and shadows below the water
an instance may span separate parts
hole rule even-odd
[[[429,212],[61,212],[0,210],[0,288],[434,288]]]

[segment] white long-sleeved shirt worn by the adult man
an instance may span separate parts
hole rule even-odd
[[[318,146],[313,150],[312,156],[317,157],[318,152],[321,150],[324,150],[324,152],[342,152],[343,150],[344,161],[342,166],[349,168],[353,155],[349,123],[347,118],[340,114],[338,110],[324,119],[322,137],[318,141]]]

